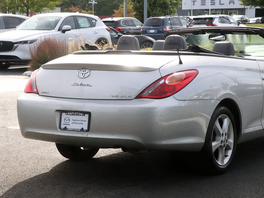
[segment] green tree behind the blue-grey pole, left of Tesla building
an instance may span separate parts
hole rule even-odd
[[[134,16],[139,21],[144,21],[144,1],[132,0]],[[148,0],[148,16],[152,15],[175,15],[177,8],[181,7],[181,0]]]

